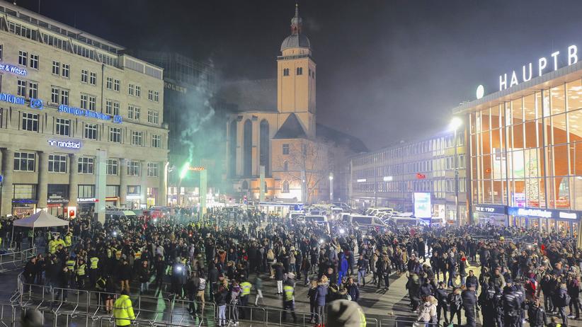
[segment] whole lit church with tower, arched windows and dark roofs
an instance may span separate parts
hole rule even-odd
[[[263,169],[266,200],[329,201],[331,179],[334,197],[345,200],[345,159],[367,150],[359,139],[316,123],[316,64],[302,32],[296,6],[291,35],[277,57],[277,79],[233,82],[221,91],[237,111],[227,122],[228,178],[249,200],[259,198]]]

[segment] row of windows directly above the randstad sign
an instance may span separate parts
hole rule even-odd
[[[22,113],[22,130],[27,130],[30,132],[38,132],[38,120],[39,115],[36,113]],[[72,128],[71,128],[72,121],[70,119],[65,118],[57,118],[55,120],[55,134],[61,136],[71,137],[73,136]],[[121,127],[108,127],[108,141],[121,143]],[[83,138],[84,139],[98,139],[98,125],[91,124],[91,123],[84,123],[83,127]],[[144,139],[144,132],[142,131],[131,131],[131,139],[130,142],[132,145],[137,145],[139,147],[144,147],[145,144],[143,142]],[[152,134],[152,143],[151,146],[154,148],[161,148],[161,135],[159,134]]]

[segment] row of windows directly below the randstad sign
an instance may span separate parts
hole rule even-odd
[[[48,156],[48,171],[50,173],[67,173],[69,156],[67,154],[50,154]],[[36,154],[34,152],[15,152],[14,171],[35,171]],[[142,163],[140,161],[128,160],[127,176],[141,176]],[[148,162],[146,175],[148,177],[159,177],[159,163]],[[120,169],[119,159],[107,159],[107,174],[117,176]],[[95,158],[81,156],[77,162],[77,173],[95,173]]]

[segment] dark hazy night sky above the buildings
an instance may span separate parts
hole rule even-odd
[[[18,0],[128,48],[211,61],[222,81],[276,76],[294,0]],[[302,0],[318,122],[371,149],[439,132],[475,89],[578,45],[582,1]],[[562,55],[561,62],[567,59]],[[549,61],[551,62],[551,61]]]

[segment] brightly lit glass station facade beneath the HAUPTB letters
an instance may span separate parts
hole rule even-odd
[[[508,224],[572,231],[582,211],[582,80],[522,93],[467,114],[474,217],[505,206]]]

